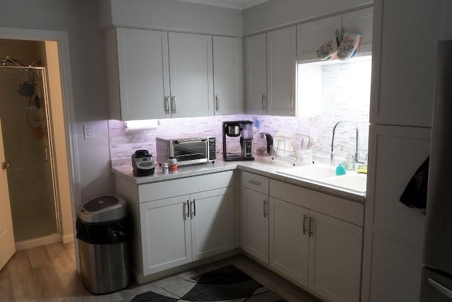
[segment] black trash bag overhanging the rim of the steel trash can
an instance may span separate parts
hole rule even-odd
[[[88,223],[77,218],[76,230],[77,239],[90,244],[122,243],[129,240],[131,233],[129,219],[126,217],[99,223]]]

